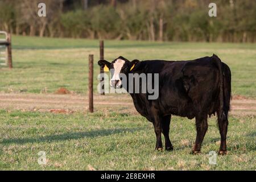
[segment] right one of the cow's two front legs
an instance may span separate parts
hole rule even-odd
[[[164,135],[164,140],[166,143],[166,150],[174,150],[172,146],[171,140],[169,138],[169,130],[170,130],[170,122],[171,122],[171,115],[166,115],[161,119],[162,124],[162,133]]]

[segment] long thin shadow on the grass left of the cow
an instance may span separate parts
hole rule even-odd
[[[142,127],[139,128],[123,128],[123,129],[102,129],[102,130],[93,130],[93,131],[84,131],[84,132],[75,132],[75,133],[64,133],[56,135],[47,135],[45,137],[38,138],[10,138],[3,139],[1,144],[25,144],[25,143],[39,143],[39,142],[56,142],[61,140],[72,140],[80,138],[94,138],[94,137],[106,137],[108,135],[114,135],[119,133],[134,133],[135,131],[143,130]]]

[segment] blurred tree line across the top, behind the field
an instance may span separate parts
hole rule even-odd
[[[38,3],[46,3],[46,17]],[[0,0],[0,30],[16,35],[151,41],[256,42],[256,2]]]

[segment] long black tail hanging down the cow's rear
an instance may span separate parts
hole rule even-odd
[[[218,108],[218,119],[225,120],[228,119],[228,111],[230,108],[230,97],[231,97],[231,72],[225,63],[222,63],[218,56],[212,56],[214,63],[218,67],[220,73],[220,94]]]

